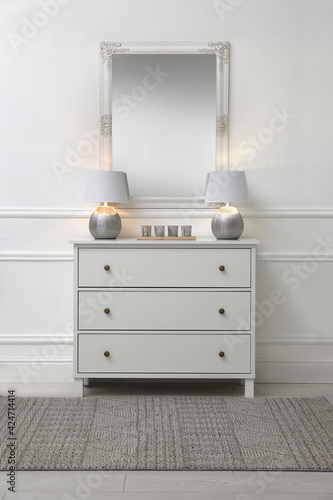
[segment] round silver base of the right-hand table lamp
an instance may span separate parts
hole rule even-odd
[[[212,219],[212,233],[218,240],[237,240],[243,230],[243,217],[235,207],[220,207]]]

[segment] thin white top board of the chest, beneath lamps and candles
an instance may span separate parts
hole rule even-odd
[[[241,238],[239,240],[216,240],[215,238],[197,239],[197,240],[137,240],[136,238],[118,238],[116,240],[78,240],[71,241],[73,245],[84,247],[173,247],[173,248],[191,248],[191,247],[210,247],[210,248],[238,248],[258,245],[260,242],[256,239]]]

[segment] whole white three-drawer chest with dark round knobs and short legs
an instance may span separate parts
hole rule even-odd
[[[74,242],[74,379],[255,378],[256,240]]]

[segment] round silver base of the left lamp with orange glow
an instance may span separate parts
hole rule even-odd
[[[115,240],[121,231],[121,219],[112,206],[96,208],[90,217],[89,231],[95,239]]]

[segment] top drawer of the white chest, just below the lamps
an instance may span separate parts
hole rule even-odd
[[[251,249],[80,248],[79,287],[251,286]]]

